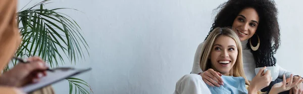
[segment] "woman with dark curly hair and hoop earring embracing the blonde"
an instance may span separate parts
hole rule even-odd
[[[279,76],[262,91],[269,91],[273,84],[281,82],[283,74],[285,74],[286,78],[290,78],[292,73],[278,66],[274,57],[280,44],[278,12],[274,1],[229,0],[220,5],[217,10],[219,12],[209,33],[217,27],[231,27],[238,34],[243,49],[244,73],[248,80],[256,76],[255,68],[264,66],[279,67]],[[204,42],[198,45],[191,73],[199,74],[208,85],[223,85],[220,73],[212,69],[201,70],[199,64],[203,45]],[[301,78],[294,76],[293,79]],[[303,83],[291,88],[289,91],[302,93]]]

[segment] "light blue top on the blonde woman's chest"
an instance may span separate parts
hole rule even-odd
[[[231,94],[240,94],[248,93],[245,87],[245,79],[243,77],[233,77],[233,76],[221,76],[223,79],[224,85],[220,87],[210,86],[207,84],[208,88],[212,93],[231,93]]]

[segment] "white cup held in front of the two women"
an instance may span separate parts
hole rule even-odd
[[[259,70],[262,69],[263,67],[260,67],[260,68],[255,68],[255,72],[256,72],[256,75],[259,73]],[[271,77],[273,77],[273,80],[276,80],[279,76],[279,67],[276,67],[276,66],[271,66],[271,67],[266,67],[266,69],[264,70],[264,73],[267,71],[267,70],[270,70],[270,73],[271,73]]]

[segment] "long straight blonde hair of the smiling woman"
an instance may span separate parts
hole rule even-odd
[[[209,34],[208,38],[205,41],[205,44],[203,45],[203,48],[202,48],[203,50],[201,51],[202,57],[201,57],[201,62],[200,62],[200,68],[202,69],[202,71],[207,71],[208,69],[211,68],[212,63],[211,63],[209,56],[212,51],[215,40],[221,35],[232,38],[233,40],[235,40],[235,42],[237,44],[238,56],[237,56],[234,66],[232,67],[232,69],[229,73],[229,76],[243,77],[245,79],[245,84],[246,84],[245,87],[247,89],[249,86],[249,81],[247,80],[247,78],[244,74],[241,41],[240,41],[238,35],[233,30],[231,30],[227,27],[224,27],[224,28],[217,27]],[[261,92],[259,90],[257,93],[264,93],[264,92]]]

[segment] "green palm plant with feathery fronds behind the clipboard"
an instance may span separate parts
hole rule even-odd
[[[44,9],[43,6],[48,4],[47,1],[49,0],[44,0],[17,13],[23,41],[15,57],[39,56],[51,68],[59,67],[59,62],[63,65],[63,57],[67,57],[71,63],[76,64],[79,59],[85,59],[83,50],[88,54],[88,44],[80,33],[81,28],[71,17],[57,12],[66,8]],[[13,66],[16,63],[12,61]],[[6,71],[9,69],[10,67],[7,66]],[[66,80],[69,81],[70,93],[92,92],[84,80],[74,77]]]

